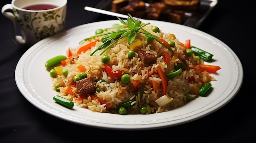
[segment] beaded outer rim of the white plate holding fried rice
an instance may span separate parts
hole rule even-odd
[[[202,117],[205,117],[215,111],[217,111],[218,109],[222,108],[223,106],[225,106],[227,103],[229,103],[229,101],[231,101],[231,99],[233,99],[236,94],[239,92],[241,86],[242,86],[242,83],[243,83],[243,66],[239,60],[239,58],[237,57],[237,55],[234,53],[234,51],[232,51],[232,49],[227,46],[225,43],[223,43],[222,41],[220,41],[219,39],[217,39],[216,37],[213,37],[212,35],[209,35],[207,33],[204,33],[203,31],[200,31],[198,29],[194,29],[194,28],[191,28],[189,26],[184,26],[184,25],[181,25],[181,24],[175,24],[175,23],[170,23],[170,22],[162,22],[162,21],[157,21],[157,20],[148,20],[149,22],[160,22],[160,23],[164,23],[164,24],[171,24],[173,26],[181,26],[181,28],[185,28],[185,29],[190,29],[190,30],[194,30],[196,32],[200,32],[200,33],[203,33],[209,37],[213,37],[215,38],[215,40],[218,40],[218,42],[220,42],[221,44],[223,44],[225,46],[225,48],[227,48],[227,50],[231,53],[231,55],[236,59],[237,61],[237,66],[238,66],[238,77],[239,79],[237,79],[237,85],[238,87],[234,87],[234,89],[232,90],[232,93],[233,95],[231,95],[229,98],[226,98],[227,101],[225,101],[225,103],[222,103],[222,105],[218,106],[218,108],[214,108],[213,110],[211,110],[210,112],[207,112],[206,114],[197,114],[198,116],[194,116],[193,118],[187,120],[187,119],[183,119],[184,121],[180,121],[180,122],[177,122],[177,123],[173,123],[173,124],[169,124],[169,123],[157,123],[157,125],[122,125],[122,124],[115,124],[114,126],[111,125],[111,124],[106,124],[106,123],[98,123],[98,124],[94,124],[92,125],[91,123],[82,123],[79,119],[77,120],[72,120],[72,119],[65,119],[63,117],[61,117],[61,114],[56,114],[56,112],[49,112],[49,110],[45,109],[45,107],[41,107],[39,105],[36,104],[36,100],[34,99],[31,99],[31,97],[28,97],[27,94],[29,94],[29,91],[27,90],[27,88],[23,85],[24,84],[24,81],[22,81],[22,84],[20,84],[20,74],[23,74],[23,73],[19,73],[20,72],[20,68],[23,67],[23,65],[25,63],[22,63],[24,62],[24,58],[26,55],[28,55],[30,52],[33,52],[33,51],[36,51],[36,46],[40,45],[40,44],[43,44],[44,42],[47,42],[48,40],[51,40],[52,37],[58,37],[60,35],[64,35],[65,36],[65,33],[66,32],[72,32],[72,31],[75,31],[75,30],[79,30],[80,28],[84,27],[84,26],[90,26],[90,25],[94,25],[94,24],[102,24],[104,22],[110,22],[110,23],[115,23],[115,22],[118,22],[119,20],[106,20],[106,21],[99,21],[99,22],[92,22],[92,23],[87,23],[87,24],[82,24],[82,25],[79,25],[79,26],[75,26],[71,29],[67,29],[65,31],[61,31],[60,33],[57,33],[56,35],[54,36],[51,36],[51,37],[47,37],[41,41],[39,41],[38,43],[34,44],[33,46],[31,46],[23,55],[22,57],[20,58],[20,60],[18,61],[17,63],[17,66],[16,66],[16,69],[15,69],[15,81],[16,81],[16,85],[18,87],[18,89],[20,90],[20,92],[22,93],[22,95],[30,102],[32,103],[34,106],[36,106],[37,108],[39,108],[40,110],[48,113],[48,114],[51,114],[52,116],[54,117],[57,117],[59,119],[63,119],[65,121],[70,121],[72,123],[76,123],[76,124],[80,124],[80,125],[86,125],[86,126],[90,126],[90,127],[95,127],[95,128],[105,128],[105,129],[114,129],[114,130],[146,130],[146,129],[157,129],[157,128],[166,128],[166,127],[171,127],[171,126],[174,126],[174,125],[180,125],[180,124],[184,124],[184,123],[188,123],[188,122],[191,122],[191,121],[195,121],[197,119],[200,119]],[[51,109],[53,110],[53,109]],[[109,113],[101,113],[101,114],[109,114]],[[181,119],[180,119],[181,120]],[[87,121],[87,122],[90,122],[90,121]]]

